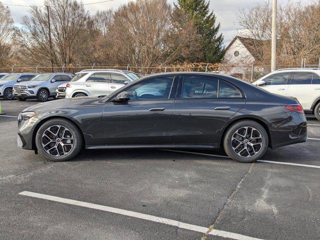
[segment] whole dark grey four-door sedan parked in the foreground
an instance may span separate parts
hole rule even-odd
[[[241,162],[261,159],[267,147],[307,138],[296,98],[237,78],[170,72],[135,80],[108,96],[42,103],[18,116],[17,144],[53,161],[81,147],[220,148]]]

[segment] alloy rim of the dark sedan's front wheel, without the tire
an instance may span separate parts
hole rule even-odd
[[[73,149],[74,137],[67,127],[53,125],[43,131],[41,144],[49,155],[64,156]]]

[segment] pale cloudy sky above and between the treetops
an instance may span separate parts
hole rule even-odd
[[[92,3],[102,0],[82,0],[83,3]],[[170,3],[174,0],[168,0]],[[254,6],[264,0],[210,0],[210,9],[216,15],[217,22],[220,22],[220,32],[224,36],[224,44],[227,45],[233,37],[237,34],[240,26],[237,23],[237,14],[239,9],[248,8]],[[270,0],[272,1],[272,0]],[[310,0],[290,0],[291,2],[300,1],[302,3],[307,3]],[[43,0],[1,0],[2,3],[10,3],[17,5],[43,5]],[[85,5],[85,8],[94,14],[97,10],[105,10],[109,8],[117,8],[119,5],[128,2],[128,0],[113,0],[109,2],[101,2],[96,4]],[[279,4],[287,3],[289,0],[277,0]],[[22,6],[11,6],[8,5],[11,10],[11,15],[15,22],[15,25],[20,25],[20,20],[23,15],[28,14],[28,7]]]

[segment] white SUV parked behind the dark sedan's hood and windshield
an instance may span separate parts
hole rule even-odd
[[[65,84],[65,98],[108,95],[137,78],[138,76],[130,71],[116,69],[82,70],[75,73],[71,82]]]

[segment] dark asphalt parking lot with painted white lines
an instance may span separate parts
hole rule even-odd
[[[86,150],[51,162],[16,146],[3,101],[0,239],[319,239],[320,122],[305,143],[238,163],[219,151]]]

